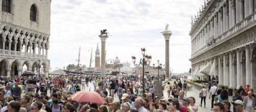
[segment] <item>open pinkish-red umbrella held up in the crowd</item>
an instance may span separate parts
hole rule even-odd
[[[80,91],[71,96],[72,100],[78,102],[93,102],[99,104],[107,103],[98,93],[94,91]]]

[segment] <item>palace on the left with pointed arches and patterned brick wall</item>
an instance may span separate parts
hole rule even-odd
[[[0,0],[0,75],[23,69],[48,75],[51,0]],[[40,61],[39,61],[40,60]],[[24,67],[27,66],[27,67]]]

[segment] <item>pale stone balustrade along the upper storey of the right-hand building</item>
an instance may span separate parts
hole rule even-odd
[[[245,26],[249,25],[250,23],[252,23],[253,21],[255,21],[256,18],[254,18],[254,16],[256,17],[256,12],[254,12],[253,14],[249,15],[248,17],[244,18],[242,21],[238,22],[235,24],[235,26],[231,27],[230,29],[228,29],[226,32],[224,32],[222,35],[215,37],[215,42],[218,43],[222,40],[224,40],[225,38],[227,38],[228,36],[231,36],[232,34],[236,33],[237,31],[243,29]],[[212,37],[211,37],[212,38]],[[210,38],[210,39],[211,39]],[[206,47],[207,48],[207,47]],[[200,53],[201,51],[203,51],[206,48],[201,48],[199,50],[197,50],[196,52],[194,52],[191,57],[193,57],[194,55]]]

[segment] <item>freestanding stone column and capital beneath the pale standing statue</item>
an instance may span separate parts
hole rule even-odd
[[[171,32],[164,32],[163,33],[164,38],[165,38],[165,78],[169,79],[169,40],[171,36]]]

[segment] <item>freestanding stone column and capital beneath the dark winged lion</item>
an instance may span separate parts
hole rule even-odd
[[[105,52],[106,52],[106,40],[109,36],[108,35],[99,35],[99,37],[100,37],[100,40],[101,40],[101,57],[100,57],[101,58],[101,64],[100,64],[101,65],[100,66],[101,71],[100,71],[100,76],[106,78],[105,77],[105,69],[106,69]]]

